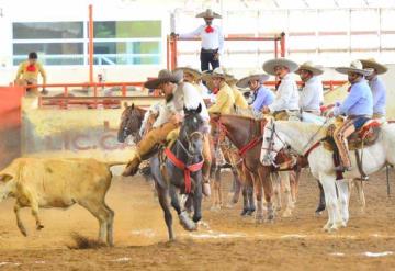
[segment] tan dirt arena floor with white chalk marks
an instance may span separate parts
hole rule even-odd
[[[223,180],[229,199],[230,174]],[[23,237],[8,200],[0,204],[0,270],[395,270],[394,180],[391,171],[393,196],[387,197],[385,171],[372,176],[365,214],[353,194],[349,226],[337,233],[321,230],[327,216],[314,215],[318,189],[304,172],[293,217],[256,224],[239,216],[240,204],[212,212],[205,200],[207,225],[188,233],[174,217],[177,241],[168,242],[151,184],[140,177],[115,177],[106,197],[115,211],[115,247],[99,249],[69,248],[72,233],[97,237],[97,221],[88,211],[42,210],[45,228],[36,232],[25,210],[30,236]]]

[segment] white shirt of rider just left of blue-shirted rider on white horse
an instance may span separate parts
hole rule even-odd
[[[324,88],[321,80],[314,76],[305,82],[300,92],[300,106],[302,111],[319,112],[319,105],[324,100]]]

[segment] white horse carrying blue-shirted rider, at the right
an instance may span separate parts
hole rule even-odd
[[[270,121],[264,126],[262,163],[270,165],[278,151],[284,147],[291,147],[298,155],[306,155],[307,150],[326,137],[326,129],[320,127],[311,123]],[[336,181],[332,151],[319,144],[308,154],[312,173],[319,179],[324,188],[328,211],[328,222],[324,229],[328,232],[336,230],[340,226],[346,227],[349,221],[349,185],[346,179],[360,177],[357,158],[352,154],[350,157],[352,170],[343,173],[345,180]],[[381,126],[381,135],[376,143],[363,149],[363,171],[371,174],[388,163],[395,163],[395,125],[385,123]]]

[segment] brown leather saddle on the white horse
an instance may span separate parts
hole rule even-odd
[[[343,123],[342,118],[337,118],[334,124],[330,124],[327,128],[327,139],[324,140],[324,147],[330,151],[334,151],[336,144],[334,140],[334,132],[340,127]],[[348,137],[349,150],[357,150],[363,147],[369,147],[375,144],[381,131],[381,122],[377,120],[370,120],[363,124],[363,126],[357,129]]]

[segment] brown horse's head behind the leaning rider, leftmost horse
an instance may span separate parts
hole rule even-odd
[[[125,110],[122,112],[121,124],[117,133],[117,139],[120,143],[124,143],[126,137],[132,135],[138,137],[139,128],[144,118],[144,112],[132,103],[127,105],[125,103]]]

